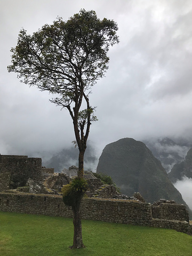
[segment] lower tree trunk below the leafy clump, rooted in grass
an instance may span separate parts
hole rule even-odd
[[[83,248],[85,247],[82,239],[82,223],[81,223],[81,199],[76,199],[75,204],[72,206],[73,210],[73,223],[74,223],[74,241],[73,246],[70,248]]]

